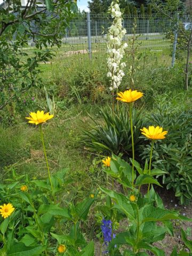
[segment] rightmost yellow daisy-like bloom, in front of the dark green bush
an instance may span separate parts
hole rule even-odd
[[[165,139],[165,135],[167,134],[167,131],[163,132],[163,128],[159,126],[149,126],[148,129],[146,127],[143,127],[143,129],[140,130],[143,135],[145,135],[148,139],[151,140]]]

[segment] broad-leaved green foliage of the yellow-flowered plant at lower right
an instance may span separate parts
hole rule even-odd
[[[139,173],[147,171],[142,170],[139,163],[135,162],[135,167]],[[156,183],[155,179],[152,179],[151,175],[140,174],[135,182],[135,186],[131,185],[131,166],[123,161],[121,158],[113,155],[111,159],[110,167],[107,167],[105,171],[108,175],[115,178],[115,180],[121,183],[125,188],[130,188],[128,195],[117,193],[114,190],[106,188],[100,188],[101,191],[107,194],[107,197],[113,200],[113,205],[106,205],[106,209],[114,211],[111,216],[121,216],[121,220],[124,218],[129,219],[129,228],[126,231],[118,233],[115,238],[112,239],[108,246],[110,255],[148,255],[148,251],[153,252],[155,255],[165,255],[162,249],[154,246],[154,243],[161,241],[169,231],[173,235],[173,228],[170,220],[187,220],[185,217],[179,215],[176,211],[166,210],[163,206],[162,199],[155,193],[153,186],[149,191],[149,194],[141,195],[140,187],[142,186],[142,180],[145,176],[146,183]],[[163,174],[163,172],[161,173]],[[135,180],[135,175],[134,175]],[[154,180],[154,181],[153,181]],[[145,183],[145,182],[144,182]],[[137,199],[131,201],[130,195],[135,195]],[[105,212],[105,211],[103,211]],[[115,221],[116,219],[113,219]],[[157,225],[158,221],[162,221],[162,225]],[[185,236],[183,241],[185,241]],[[187,246],[190,243],[186,241]],[[125,249],[123,245],[129,246],[131,250]],[[141,254],[142,251],[142,254]]]

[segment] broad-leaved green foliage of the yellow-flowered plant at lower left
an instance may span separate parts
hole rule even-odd
[[[57,246],[54,246],[56,247],[54,249],[49,244],[49,239],[53,236],[59,244],[65,243],[71,256],[93,255],[93,244],[86,244],[79,225],[87,219],[95,197],[85,198],[78,204],[61,206],[60,202],[57,203],[59,194],[68,183],[72,182],[66,177],[66,169],[52,175],[53,193],[49,180],[30,181],[28,175],[17,175],[14,171],[12,178],[6,179],[6,183],[1,184],[1,205],[11,203],[15,208],[0,226],[1,253],[18,256],[43,255],[43,252],[57,253]],[[21,191],[23,183],[27,186],[25,191]],[[62,223],[66,225],[67,222],[73,223],[68,235],[52,233],[57,232],[57,223],[60,226]],[[82,247],[82,253],[78,252],[78,246]]]

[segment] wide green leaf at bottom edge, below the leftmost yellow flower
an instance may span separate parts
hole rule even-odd
[[[28,247],[23,243],[14,244],[7,252],[7,256],[36,256],[45,251],[46,246],[37,245]]]

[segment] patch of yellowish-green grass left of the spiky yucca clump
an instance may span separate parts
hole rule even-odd
[[[92,113],[97,111],[92,106],[74,106],[68,109],[68,113],[60,113],[43,127],[50,170],[54,173],[69,168],[69,177],[74,179],[73,184],[69,186],[72,198],[85,197],[90,191],[98,188],[102,179],[105,180],[102,171],[92,163],[94,155],[87,154],[82,150],[82,146],[79,146],[81,129],[89,122],[86,118],[88,109]],[[28,174],[30,179],[46,177],[37,126],[21,120],[20,124],[12,127],[0,126],[0,134],[1,180],[9,177],[12,169],[20,174]]]

